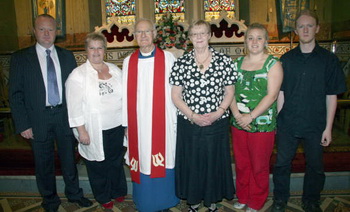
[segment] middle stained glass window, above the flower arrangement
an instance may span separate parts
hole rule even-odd
[[[154,0],[156,22],[166,13],[172,13],[180,22],[185,20],[185,0]]]

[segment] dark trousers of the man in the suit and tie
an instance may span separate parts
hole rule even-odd
[[[76,140],[72,133],[67,133],[62,123],[62,109],[52,108],[44,111],[48,123],[47,138],[31,141],[35,160],[35,176],[40,194],[43,196],[42,206],[45,209],[57,209],[61,204],[57,195],[55,176],[55,141],[61,163],[65,195],[68,199],[77,200],[83,196],[79,188],[78,171],[75,163]],[[70,129],[68,129],[70,130]]]

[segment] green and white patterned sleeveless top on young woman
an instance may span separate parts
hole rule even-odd
[[[237,82],[235,84],[235,97],[240,113],[250,113],[267,95],[267,73],[279,59],[269,55],[263,68],[255,71],[242,70],[243,59],[244,57],[239,57],[234,61],[234,66],[238,72]],[[276,116],[277,103],[274,102],[269,109],[252,121],[250,124],[252,128],[248,132],[274,131],[276,128]],[[236,123],[233,116],[231,117],[231,124],[243,130]]]

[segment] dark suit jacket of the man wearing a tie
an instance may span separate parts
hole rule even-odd
[[[62,109],[60,120],[67,134],[71,134],[65,99],[64,83],[77,67],[72,52],[55,46],[62,74]],[[9,101],[16,132],[32,128],[34,139],[47,137],[47,109],[45,84],[35,45],[12,54],[9,77]]]

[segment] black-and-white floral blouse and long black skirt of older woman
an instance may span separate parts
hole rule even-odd
[[[209,47],[212,59],[202,74],[191,51],[175,62],[170,84],[183,88],[183,100],[197,114],[215,112],[224,99],[225,86],[237,80],[232,59]],[[178,110],[176,192],[188,204],[205,206],[232,199],[235,192],[229,146],[229,111],[212,125],[191,124]]]

